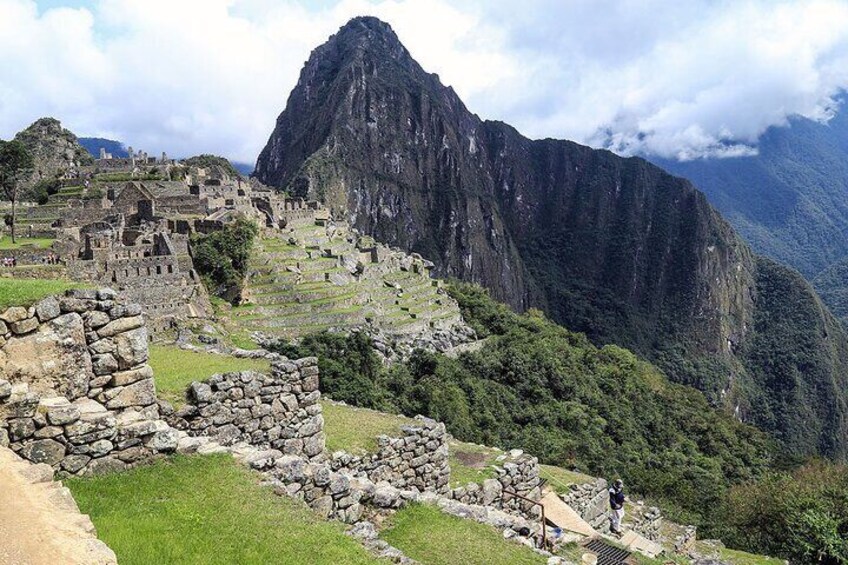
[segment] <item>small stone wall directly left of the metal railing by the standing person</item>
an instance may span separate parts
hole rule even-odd
[[[539,500],[539,460],[520,450],[504,456],[495,466],[496,476],[482,484],[469,483],[450,491],[449,498],[463,504],[491,506],[535,519],[540,515],[538,505],[522,500],[511,493]]]

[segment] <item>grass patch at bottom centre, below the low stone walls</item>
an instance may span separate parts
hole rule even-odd
[[[546,563],[528,547],[503,539],[484,524],[411,505],[390,517],[380,537],[425,565],[536,565]]]

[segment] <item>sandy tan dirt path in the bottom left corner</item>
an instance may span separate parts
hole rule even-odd
[[[0,447],[0,564],[117,563],[97,539],[70,491],[46,465],[31,465]]]

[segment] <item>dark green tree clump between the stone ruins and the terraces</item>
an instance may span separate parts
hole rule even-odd
[[[242,290],[250,250],[259,233],[256,224],[239,218],[210,234],[197,234],[191,240],[194,266],[206,287],[216,296],[237,302]]]

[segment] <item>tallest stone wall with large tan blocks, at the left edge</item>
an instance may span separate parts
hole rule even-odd
[[[159,418],[141,309],[110,289],[0,314],[0,445],[65,474],[120,470],[177,446]]]

